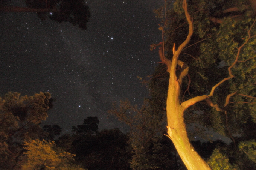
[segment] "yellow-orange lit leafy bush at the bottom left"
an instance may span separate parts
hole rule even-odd
[[[54,141],[31,140],[24,143],[26,160],[22,170],[84,170],[71,163],[73,154],[56,148]]]

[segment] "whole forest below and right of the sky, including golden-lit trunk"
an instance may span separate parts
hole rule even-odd
[[[108,111],[130,131],[99,131],[87,117],[60,136],[59,125],[40,126],[50,93],[9,92],[0,99],[0,169],[256,169],[256,1],[165,0],[154,12],[162,42],[150,50],[160,63],[138,77],[150,97]]]

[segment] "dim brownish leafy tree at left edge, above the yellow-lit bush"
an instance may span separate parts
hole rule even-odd
[[[52,101],[50,93],[42,92],[34,96],[9,92],[0,98],[0,169],[19,169],[21,144],[26,138],[44,136],[38,123],[48,117]]]

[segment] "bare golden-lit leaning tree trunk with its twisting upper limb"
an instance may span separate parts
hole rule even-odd
[[[188,170],[210,170],[210,167],[207,165],[207,163],[198,155],[193,146],[190,144],[189,138],[187,137],[187,130],[183,117],[184,111],[189,106],[195,104],[198,101],[206,99],[208,96],[198,96],[180,104],[180,87],[183,78],[189,71],[189,67],[184,62],[178,60],[178,56],[190,41],[190,38],[193,34],[193,23],[189,13],[187,12],[186,0],[183,0],[183,9],[189,23],[189,34],[186,40],[178,47],[177,51],[175,50],[174,44],[172,61],[165,58],[163,43],[160,43],[162,46],[159,48],[160,59],[163,63],[166,64],[168,67],[167,71],[170,73],[166,104],[168,137],[174,143],[175,148],[177,149],[182,161]],[[176,73],[177,65],[182,68],[180,74]]]

